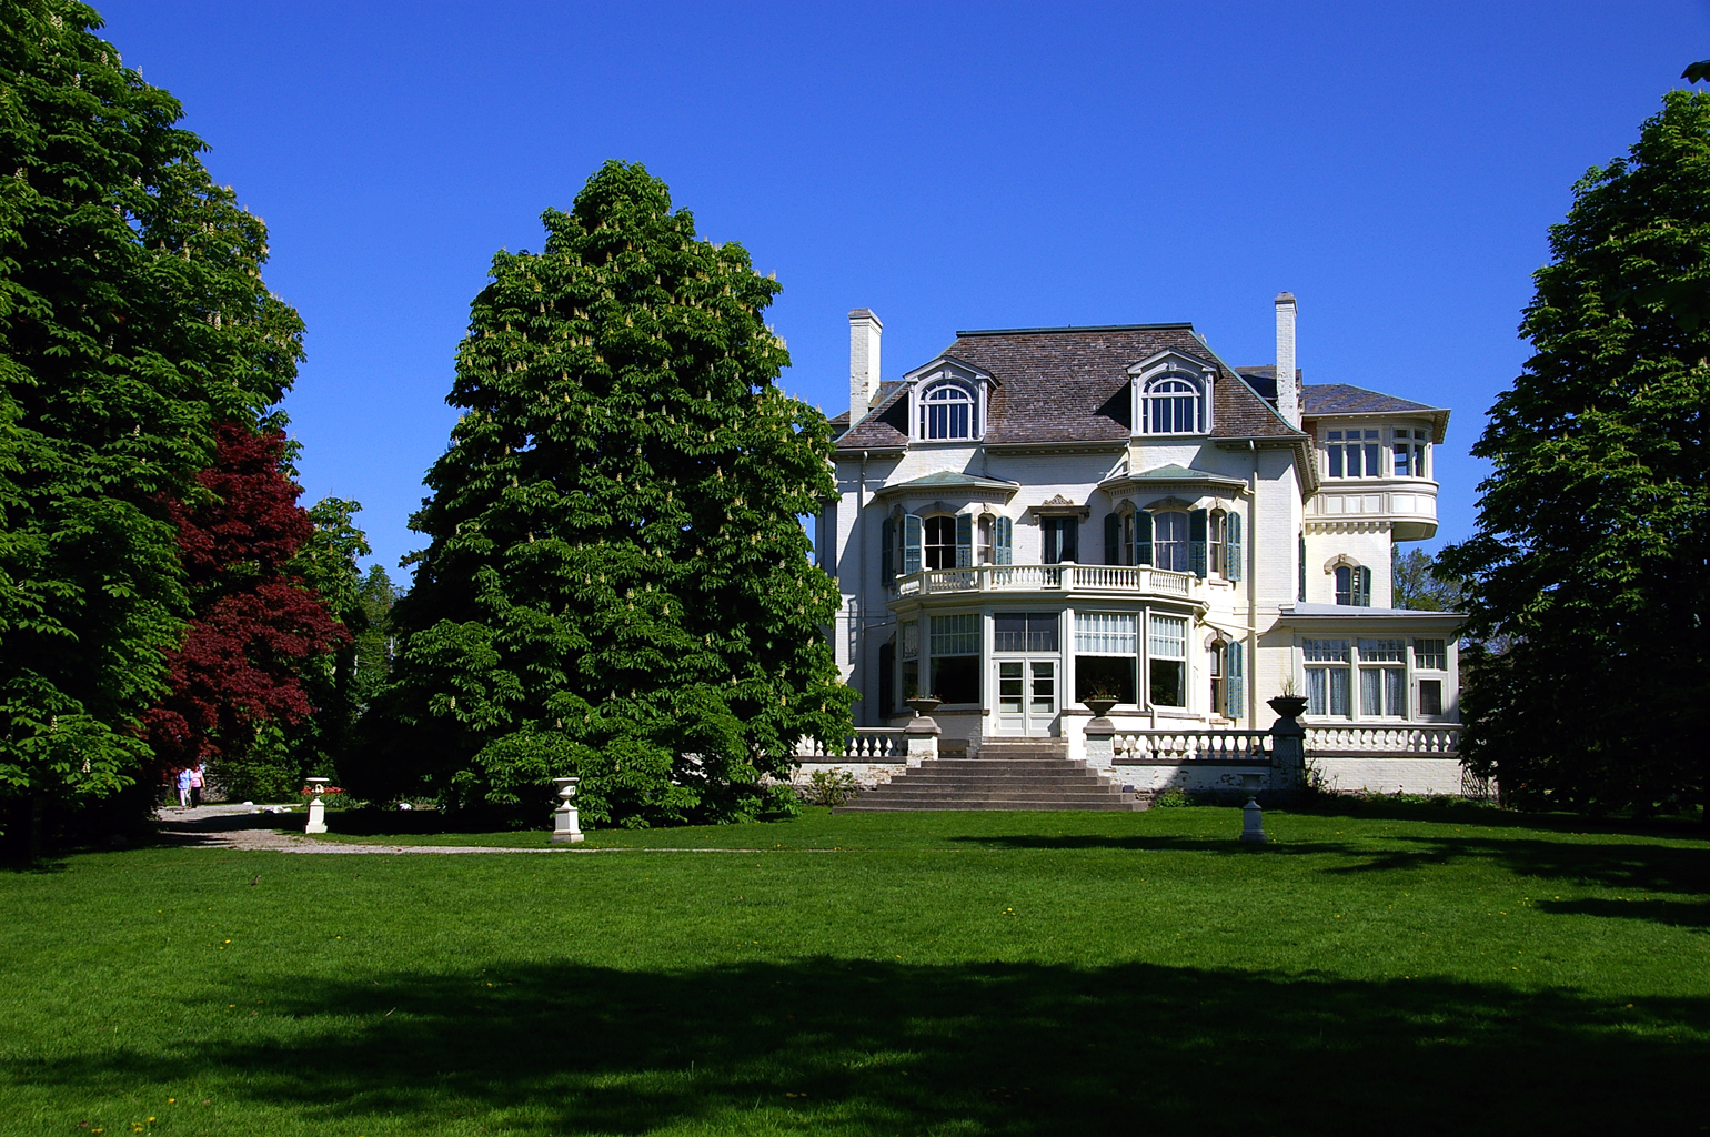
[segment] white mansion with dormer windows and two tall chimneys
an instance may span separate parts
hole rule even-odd
[[[1105,773],[1156,788],[1300,694],[1339,788],[1459,792],[1460,617],[1390,607],[1392,542],[1436,532],[1448,410],[1301,386],[1294,313],[1277,296],[1274,366],[1233,368],[1187,323],[1014,328],[891,381],[879,318],[850,313],[814,545],[858,733],[932,694],[940,752],[1082,757],[1082,701],[1113,698]]]

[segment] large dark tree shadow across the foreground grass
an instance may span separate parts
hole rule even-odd
[[[265,1017],[12,1077],[67,1094],[193,1082],[262,1128],[282,1110],[340,1132],[455,1115],[530,1134],[1681,1132],[1710,1060],[1703,999],[1151,964],[557,963],[221,1000]]]

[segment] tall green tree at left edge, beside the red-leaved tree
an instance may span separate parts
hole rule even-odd
[[[39,834],[159,771],[188,597],[168,503],[215,421],[256,422],[301,357],[267,231],[92,9],[0,0],[0,807]],[[142,785],[139,785],[139,780]],[[27,819],[38,824],[29,824]]]

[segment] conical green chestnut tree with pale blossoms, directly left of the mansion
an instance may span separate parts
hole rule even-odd
[[[397,757],[369,773],[530,816],[580,775],[598,822],[787,809],[763,780],[804,733],[841,739],[850,694],[797,521],[834,492],[831,434],[776,386],[778,284],[641,166],[542,221],[545,251],[494,258],[458,349],[463,415],[393,610]]]

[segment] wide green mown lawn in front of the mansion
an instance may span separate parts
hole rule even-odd
[[[5,872],[0,1134],[1707,1128],[1707,841],[1265,824],[816,810]]]

